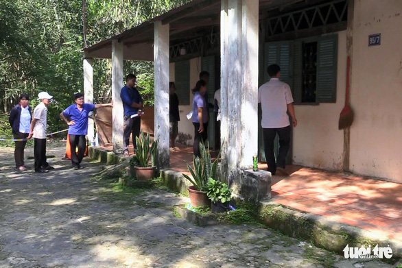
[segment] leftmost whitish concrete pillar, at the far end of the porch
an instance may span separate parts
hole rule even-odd
[[[84,58],[83,68],[84,68],[84,102],[93,103],[93,59]],[[86,139],[89,145],[93,145],[95,138],[95,126],[93,119],[88,119],[88,134]]]

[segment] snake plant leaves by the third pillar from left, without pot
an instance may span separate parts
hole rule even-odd
[[[152,166],[156,165],[156,159],[158,158],[158,140],[154,140],[151,143],[150,134],[147,133],[147,136],[145,136],[142,130],[140,138],[135,137],[135,140],[137,143],[137,149],[134,150],[135,150],[135,156],[137,157],[138,160],[139,167],[149,167],[148,162],[150,162],[150,158]],[[131,160],[134,161],[133,158],[131,158]]]

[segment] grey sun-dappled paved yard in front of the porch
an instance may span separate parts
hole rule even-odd
[[[32,156],[32,149],[27,149]],[[60,160],[47,174],[14,171],[0,148],[0,267],[394,267],[345,260],[304,241],[254,226],[193,226],[174,217],[185,204],[161,188],[123,191]],[[33,160],[27,161],[33,165]]]

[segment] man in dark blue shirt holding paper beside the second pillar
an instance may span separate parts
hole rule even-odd
[[[126,77],[126,86],[121,88],[121,101],[124,109],[124,133],[123,133],[123,151],[125,156],[128,153],[128,145],[130,143],[130,135],[132,135],[132,145],[137,148],[135,137],[139,136],[141,130],[141,115],[143,114],[143,99],[141,94],[135,87],[137,77],[130,73]],[[138,117],[132,115],[138,114]]]

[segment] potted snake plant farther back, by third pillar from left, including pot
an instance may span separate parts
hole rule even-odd
[[[140,138],[136,137],[137,149],[134,149],[138,160],[138,167],[134,167],[138,180],[150,180],[154,178],[156,161],[158,159],[158,140],[150,143],[150,134],[144,135],[141,130]],[[151,146],[150,146],[151,144]],[[149,162],[151,160],[151,165]],[[134,160],[133,160],[134,161]]]

